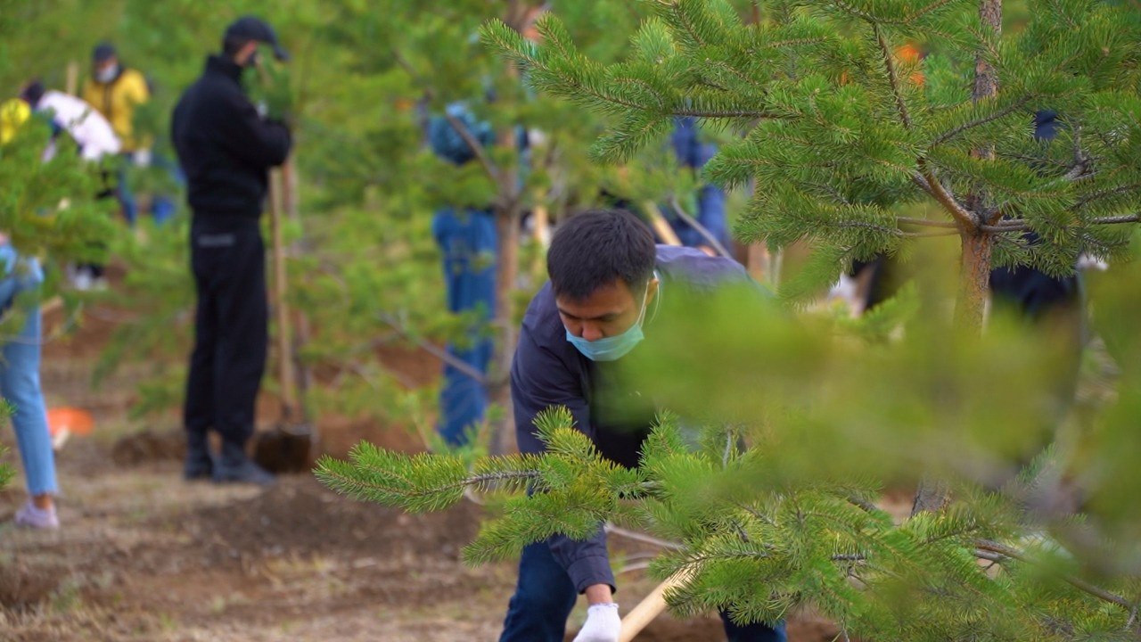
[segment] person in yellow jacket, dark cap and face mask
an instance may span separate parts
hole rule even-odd
[[[138,70],[123,66],[119,61],[115,47],[110,42],[100,42],[91,56],[91,78],[83,85],[83,99],[91,104],[104,118],[111,121],[115,135],[122,142],[122,154],[127,162],[136,167],[151,164],[151,141],[135,135],[135,110],[151,99],[151,88],[146,78]],[[156,164],[162,159],[155,159]],[[168,171],[176,175],[171,167]],[[119,188],[115,192],[123,217],[135,225],[138,206],[135,195],[127,184],[126,171],[119,172]],[[155,223],[162,223],[173,215],[175,203],[170,198],[155,194],[151,203]]]

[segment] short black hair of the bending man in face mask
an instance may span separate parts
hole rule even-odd
[[[583,300],[621,279],[638,291],[654,274],[654,234],[624,209],[594,209],[572,216],[555,232],[547,273],[555,296]]]

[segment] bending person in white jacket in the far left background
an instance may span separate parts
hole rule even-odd
[[[66,131],[75,141],[83,160],[98,161],[104,157],[118,154],[122,149],[122,143],[107,119],[75,96],[44,89],[43,83],[33,80],[24,87],[21,98],[26,101],[33,111],[49,113],[52,125]],[[43,151],[43,160],[50,160],[56,151],[57,145],[52,142]]]

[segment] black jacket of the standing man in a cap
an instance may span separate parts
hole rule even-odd
[[[232,59],[210,56],[202,78],[175,107],[171,138],[196,217],[257,218],[269,168],[289,155],[289,129],[258,115],[241,75]]]

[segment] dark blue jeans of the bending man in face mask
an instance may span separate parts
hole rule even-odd
[[[519,557],[519,581],[508,604],[500,642],[563,642],[567,617],[578,597],[570,577],[545,541],[528,545]],[[721,613],[729,642],[786,642],[784,624],[737,626]]]

